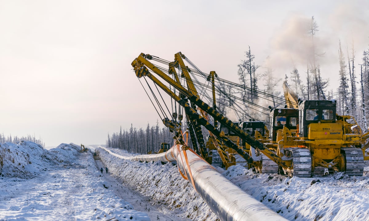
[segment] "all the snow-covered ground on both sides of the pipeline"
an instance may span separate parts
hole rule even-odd
[[[108,151],[96,148],[95,160],[75,144],[51,150],[28,141],[1,144],[0,220],[217,219],[175,164],[141,163],[125,151]],[[217,169],[287,220],[369,220],[368,162],[356,177],[289,178],[241,165]]]

